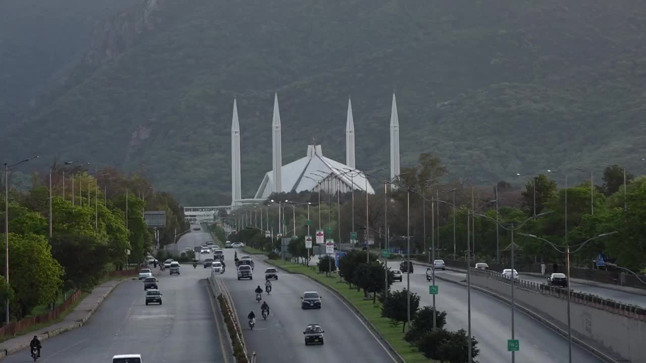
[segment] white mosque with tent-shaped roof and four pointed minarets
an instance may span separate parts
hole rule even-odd
[[[231,205],[258,203],[266,200],[275,192],[313,191],[335,193],[354,190],[374,194],[370,181],[355,169],[355,125],[352,118],[352,103],[348,100],[346,121],[346,163],[331,160],[323,155],[321,145],[309,145],[307,154],[291,163],[282,162],[282,140],[280,130],[280,111],[278,95],[274,96],[272,119],[272,168],[266,172],[254,198],[243,199],[240,187],[240,124],[238,106],[233,101],[233,120],[231,121]],[[390,113],[390,177],[395,178],[399,171],[399,118],[397,102],[393,94]]]

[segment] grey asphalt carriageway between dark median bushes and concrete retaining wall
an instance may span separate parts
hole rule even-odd
[[[399,269],[399,263],[389,262],[389,267]],[[410,291],[420,297],[420,306],[432,306],[432,295],[428,294],[426,269],[421,266],[410,276]],[[442,275],[444,272],[437,272]],[[446,273],[455,274],[451,271]],[[466,287],[450,282],[435,280],[439,294],[435,304],[439,311],[446,311],[446,328],[449,330],[467,329]],[[402,282],[395,282],[391,289],[406,287],[406,274]],[[511,353],[507,351],[507,339],[511,338],[511,307],[496,298],[471,290],[471,331],[478,341],[480,354],[476,358],[480,363],[510,362]],[[568,341],[554,331],[543,326],[533,318],[516,311],[514,316],[516,339],[520,340],[520,351],[516,352],[516,362],[567,362]],[[572,346],[572,362],[600,363],[578,346]]]

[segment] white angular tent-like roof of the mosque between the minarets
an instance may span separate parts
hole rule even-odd
[[[324,176],[335,174],[336,176],[339,176],[342,183],[348,187],[354,183],[355,190],[365,192],[366,178],[363,174],[359,174],[360,171],[357,170],[353,173],[349,172],[344,174],[351,170],[353,169],[348,167],[348,165],[323,156],[320,145],[309,145],[309,147],[307,147],[307,156],[282,166],[282,192],[314,191],[318,185],[314,180],[321,179],[320,176],[317,177],[314,174]],[[269,197],[271,191],[273,191],[273,185],[271,185],[273,174],[273,171],[269,171],[265,174],[262,179],[262,183],[260,183],[260,187],[258,187],[255,198]],[[352,178],[350,175],[352,175]],[[306,178],[306,176],[309,178]],[[375,194],[375,190],[372,185],[370,185],[370,182],[368,182],[368,193]]]

